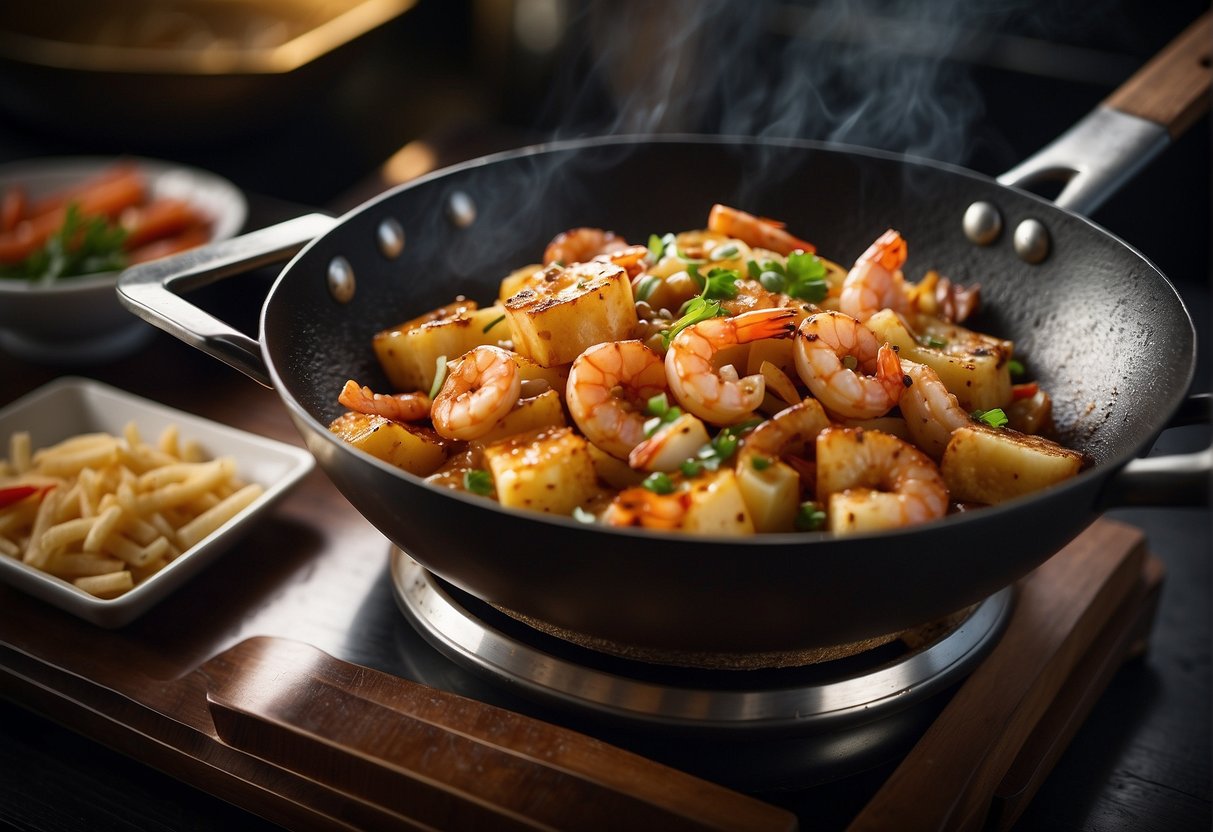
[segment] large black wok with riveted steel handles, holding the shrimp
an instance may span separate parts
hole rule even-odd
[[[1208,42],[1207,23],[1197,44]],[[1191,102],[1207,93],[1203,72]],[[1185,410],[1196,342],[1184,303],[1145,257],[1075,211],[1097,205],[1166,144],[1168,125],[1194,120],[1198,103],[1184,102],[1160,125],[1114,101],[1006,183],[809,141],[645,136],[526,148],[439,171],[337,220],[306,216],[131,269],[119,291],[136,314],[272,386],[340,491],[395,545],[478,598],[662,651],[843,644],[989,597],[1112,502],[1208,500],[1208,454],[1135,460]],[[1058,203],[1012,187],[1066,166],[1083,172]],[[565,228],[599,226],[644,240],[702,227],[714,201],[779,217],[843,262],[894,227],[909,240],[912,279],[938,268],[980,283],[984,312],[974,325],[1015,341],[1054,398],[1063,440],[1093,466],[1046,492],[896,534],[738,540],[505,509],[429,486],[326,429],[347,378],[386,389],[371,351],[376,331],[456,294],[491,301],[508,270],[534,262]],[[969,213],[985,245],[962,230],[975,203],[1001,216],[993,235],[990,224],[972,222],[990,213]],[[1029,262],[1043,251],[1033,229],[1047,232],[1038,263]],[[258,340],[178,294],[286,257]]]

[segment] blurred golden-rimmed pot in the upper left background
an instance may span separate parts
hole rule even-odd
[[[301,106],[416,0],[0,6],[0,110],[96,139],[201,142]]]

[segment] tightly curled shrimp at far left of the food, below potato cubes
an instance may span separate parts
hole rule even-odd
[[[475,439],[518,404],[522,375],[514,357],[482,344],[465,353],[434,397],[434,429],[448,439]]]

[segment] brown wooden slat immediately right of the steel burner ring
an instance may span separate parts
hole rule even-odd
[[[973,828],[1083,654],[1138,585],[1141,534],[1104,520],[1020,583],[998,644],[850,825]]]

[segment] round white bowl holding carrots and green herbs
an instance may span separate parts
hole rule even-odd
[[[87,179],[118,161],[133,163],[152,196],[189,200],[213,222],[212,240],[234,237],[247,216],[244,194],[206,171],[141,158],[47,158],[0,165],[0,193],[21,184],[32,199]],[[64,278],[50,285],[0,279],[0,349],[64,365],[110,361],[133,352],[155,329],[118,301],[119,272]]]

